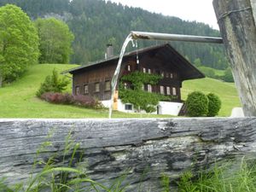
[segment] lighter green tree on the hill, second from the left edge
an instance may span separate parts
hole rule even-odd
[[[66,23],[55,18],[35,21],[40,39],[40,63],[68,63],[73,53],[73,33]]]

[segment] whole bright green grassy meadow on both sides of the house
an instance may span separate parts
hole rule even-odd
[[[45,77],[55,68],[58,72],[75,65],[40,64],[29,70],[17,81],[0,89],[0,118],[108,118],[108,110],[95,110],[67,105],[55,105],[41,101],[35,94]],[[68,85],[71,92],[72,85]],[[215,79],[197,79],[183,82],[183,99],[193,90],[213,92],[220,96],[223,105],[220,116],[230,116],[231,109],[240,106],[234,84]],[[148,115],[113,112],[113,118],[171,117],[169,115]]]

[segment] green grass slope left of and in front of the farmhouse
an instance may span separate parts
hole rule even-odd
[[[38,99],[35,95],[45,77],[56,68],[58,72],[75,65],[35,65],[16,82],[0,89],[0,118],[108,118],[108,110],[55,105]],[[67,91],[71,92],[72,85]],[[113,112],[113,118],[171,117],[170,115],[148,115]]]

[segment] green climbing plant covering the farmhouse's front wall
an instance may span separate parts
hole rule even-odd
[[[138,110],[145,110],[152,113],[160,100],[171,100],[170,97],[151,93],[143,90],[144,84],[157,84],[162,77],[160,75],[133,72],[122,77],[119,86],[119,97],[124,103],[131,103]],[[131,89],[125,89],[123,82],[130,82]]]

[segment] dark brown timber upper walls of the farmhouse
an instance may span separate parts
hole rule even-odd
[[[106,90],[106,81],[111,81],[117,62],[117,60],[108,61],[100,65],[86,67],[78,72],[73,72],[73,95],[93,96],[100,101],[109,100],[111,91]],[[137,64],[136,55],[132,55],[123,61],[120,77],[137,70],[145,73],[149,73],[150,70],[152,74],[160,74],[163,76],[163,79],[160,80],[159,84],[152,85],[152,92],[161,93],[160,86],[163,86],[164,92],[161,94],[172,96],[174,102],[180,102],[182,80],[180,78],[180,72],[177,71],[175,65],[172,65],[172,62],[164,61],[155,55],[155,53],[152,54],[150,52],[139,55],[139,63]],[[130,70],[128,69],[128,65],[130,66]],[[96,91],[96,84],[99,84],[99,91]],[[88,86],[88,93],[84,92],[84,85]],[[167,88],[170,90],[169,94]],[[144,90],[148,90],[147,84],[144,84]]]

